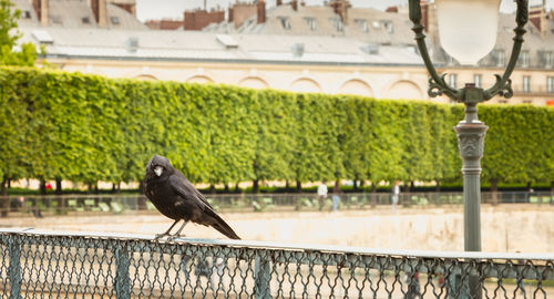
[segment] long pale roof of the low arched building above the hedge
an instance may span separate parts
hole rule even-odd
[[[343,37],[55,27],[24,27],[21,32],[22,42],[43,44],[51,58],[421,64],[413,47],[368,44]]]

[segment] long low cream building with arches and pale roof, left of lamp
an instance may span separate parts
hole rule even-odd
[[[224,83],[254,89],[425,99],[427,73],[413,49],[331,37],[197,31],[27,28],[62,70],[110,78]],[[83,41],[75,37],[86,35]]]

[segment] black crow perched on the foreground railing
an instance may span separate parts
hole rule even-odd
[[[175,220],[164,234],[156,239],[170,236],[177,237],[188,221],[212,226],[232,239],[240,239],[235,231],[214,212],[206,200],[186,177],[173,168],[170,159],[154,155],[146,165],[144,193],[154,206],[166,217]],[[174,235],[172,228],[179,221],[185,223]]]

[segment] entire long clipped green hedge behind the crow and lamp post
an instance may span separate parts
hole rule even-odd
[[[0,69],[4,178],[141,181],[153,154],[193,182],[459,179],[461,105]],[[554,110],[481,105],[483,177],[554,181]]]

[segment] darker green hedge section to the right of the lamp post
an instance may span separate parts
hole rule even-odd
[[[506,183],[554,181],[554,110],[529,105],[483,106],[489,125],[483,177]]]

